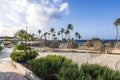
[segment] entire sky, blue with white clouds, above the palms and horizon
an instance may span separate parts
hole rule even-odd
[[[13,36],[28,26],[37,34],[73,24],[72,37],[115,39],[113,25],[120,18],[120,0],[0,0],[0,35]],[[120,31],[120,29],[119,29]]]

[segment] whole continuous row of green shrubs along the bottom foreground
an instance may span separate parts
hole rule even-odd
[[[120,80],[120,72],[108,67],[97,64],[83,64],[79,67],[71,59],[56,55],[30,60],[28,65],[43,80]]]

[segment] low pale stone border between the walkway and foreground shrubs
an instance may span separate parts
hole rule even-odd
[[[13,61],[13,64],[29,79],[29,80],[42,80],[38,78],[32,71],[29,69],[25,68],[19,63],[16,63]]]

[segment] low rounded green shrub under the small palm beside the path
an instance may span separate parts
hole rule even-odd
[[[38,53],[35,52],[34,50],[32,51],[27,50],[27,52],[15,51],[11,53],[11,58],[16,62],[27,62],[28,60],[36,58],[37,55]]]

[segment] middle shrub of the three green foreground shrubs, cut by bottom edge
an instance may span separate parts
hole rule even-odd
[[[64,64],[59,70],[59,80],[79,80],[79,66],[77,64]]]

